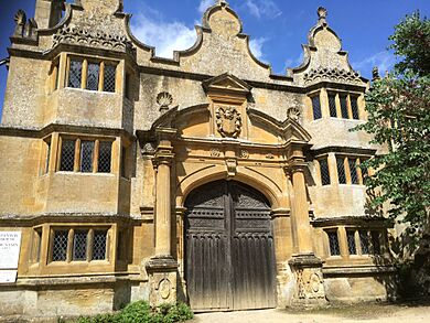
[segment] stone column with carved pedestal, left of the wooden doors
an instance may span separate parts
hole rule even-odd
[[[171,166],[174,159],[171,140],[176,130],[157,129],[159,144],[153,159],[155,180],[155,255],[147,263],[151,305],[176,301],[178,261],[172,257]]]

